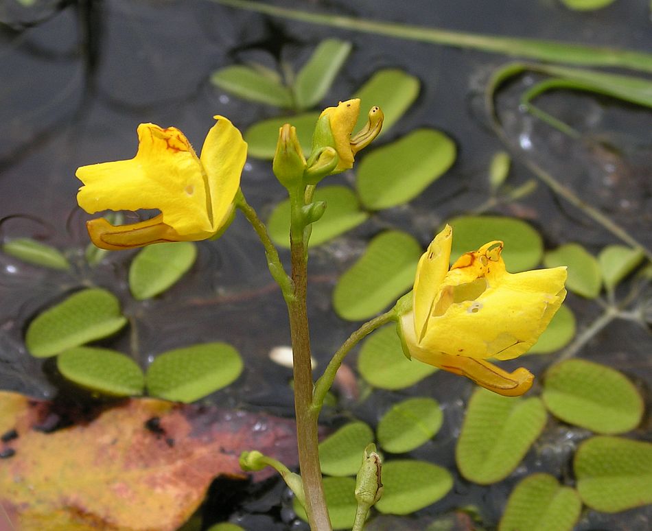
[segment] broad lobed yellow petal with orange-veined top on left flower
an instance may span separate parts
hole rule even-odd
[[[88,213],[159,209],[179,235],[211,231],[209,186],[183,133],[141,123],[138,137],[134,158],[77,170],[84,183],[77,195],[80,207]]]

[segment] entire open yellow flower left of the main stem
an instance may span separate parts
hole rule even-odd
[[[128,161],[82,166],[77,201],[89,214],[156,209],[151,220],[113,226],[100,218],[86,226],[93,243],[118,250],[161,241],[196,241],[216,235],[233,213],[247,145],[235,126],[216,116],[201,156],[184,134],[153,123],[138,126],[138,152]]]

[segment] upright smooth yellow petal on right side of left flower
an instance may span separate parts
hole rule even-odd
[[[200,156],[209,188],[211,233],[219,231],[229,219],[247,158],[247,143],[240,131],[223,116],[213,118],[217,123],[206,135]]]

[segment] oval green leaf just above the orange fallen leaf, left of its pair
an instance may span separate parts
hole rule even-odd
[[[145,377],[130,357],[108,349],[78,346],[56,360],[59,372],[82,387],[115,397],[143,394]]]

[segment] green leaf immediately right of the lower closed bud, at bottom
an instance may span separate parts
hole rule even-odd
[[[414,460],[383,463],[382,482],[384,491],[375,508],[390,515],[409,515],[434,504],[453,486],[453,478],[446,469]]]

